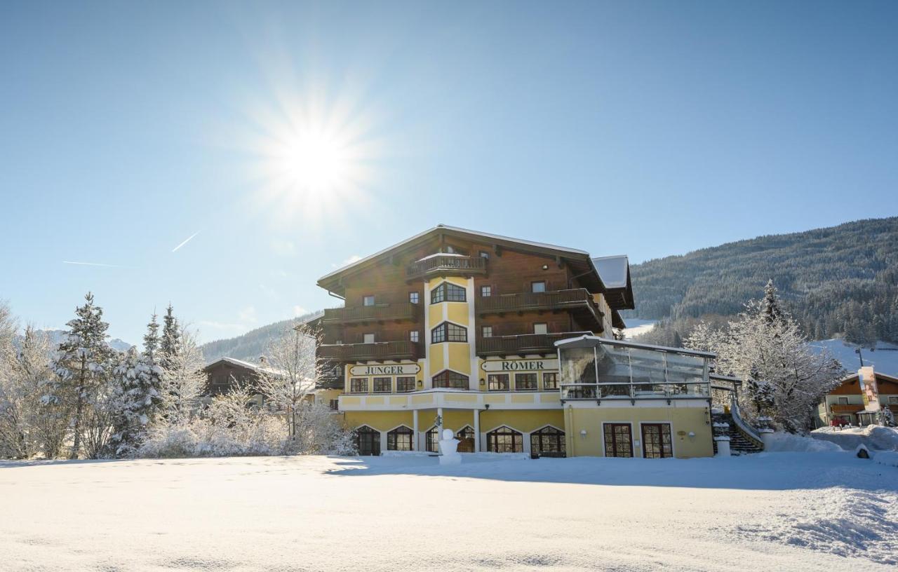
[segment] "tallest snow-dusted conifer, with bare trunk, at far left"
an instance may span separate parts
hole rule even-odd
[[[93,294],[84,296],[84,306],[75,309],[75,319],[66,324],[66,339],[59,344],[51,368],[57,374],[48,386],[43,402],[48,405],[70,403],[73,409],[72,458],[81,452],[85,410],[104,399],[111,349],[106,342],[109,324],[102,320],[103,310],[93,303]]]

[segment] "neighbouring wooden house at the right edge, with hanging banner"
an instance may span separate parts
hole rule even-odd
[[[868,379],[875,381],[869,384]],[[863,383],[862,383],[863,382]],[[862,386],[867,383],[867,401]],[[833,420],[851,425],[869,425],[878,422],[879,411],[872,403],[879,403],[879,408],[889,408],[898,417],[898,377],[886,376],[874,371],[872,367],[860,368],[858,373],[845,377],[841,385],[833,389],[823,398],[818,408],[823,425],[831,425]]]

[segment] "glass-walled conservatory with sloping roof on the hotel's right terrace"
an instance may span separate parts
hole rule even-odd
[[[714,354],[591,335],[561,340],[561,399],[708,399]]]

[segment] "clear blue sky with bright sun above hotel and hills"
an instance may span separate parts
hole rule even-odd
[[[638,262],[894,215],[896,28],[894,2],[4,2],[0,299],[60,327],[92,290],[129,342],[171,301],[212,340],[440,222]],[[287,184],[303,129],[339,141],[328,188]]]

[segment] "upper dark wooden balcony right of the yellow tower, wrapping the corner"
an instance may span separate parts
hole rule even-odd
[[[595,304],[593,295],[585,288],[499,294],[478,298],[475,308],[481,316],[508,312],[571,310],[583,314],[592,325],[596,326],[596,332],[603,330],[603,313]]]

